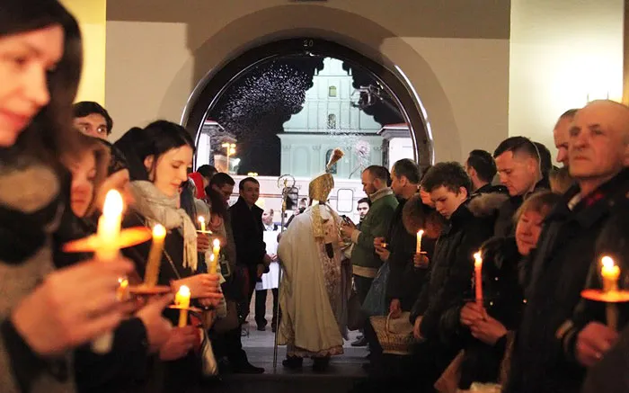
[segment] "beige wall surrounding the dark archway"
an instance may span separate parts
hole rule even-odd
[[[203,76],[244,49],[305,35],[403,70],[425,108],[438,160],[495,147],[508,135],[509,2],[395,4],[109,0],[113,138],[156,118],[179,121]]]

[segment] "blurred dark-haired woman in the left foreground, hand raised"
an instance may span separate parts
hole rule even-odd
[[[91,261],[53,272],[62,155],[75,155],[72,101],[81,74],[75,19],[57,0],[0,5],[0,386],[75,390],[68,351],[129,311],[115,297],[132,264]],[[90,299],[86,301],[85,299]]]

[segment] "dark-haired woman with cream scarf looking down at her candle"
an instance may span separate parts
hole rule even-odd
[[[125,226],[161,224],[166,229],[164,252],[159,263],[158,285],[171,285],[178,291],[182,285],[190,290],[191,299],[221,298],[217,275],[197,274],[197,228],[179,205],[180,187],[187,182],[192,164],[194,143],[188,131],[169,121],[155,121],[145,129],[134,128],[115,143],[127,158],[131,175],[131,192],[135,203],[129,206]],[[144,276],[150,244],[124,250]],[[179,324],[179,310],[166,310],[174,326]],[[181,391],[199,382],[200,362],[190,350],[199,344],[194,326],[176,327],[171,339],[160,349],[156,379],[164,382],[164,391]],[[162,377],[163,375],[163,377]]]

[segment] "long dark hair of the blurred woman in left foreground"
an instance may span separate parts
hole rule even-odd
[[[3,0],[0,6],[0,37],[55,24],[64,31],[64,52],[57,69],[48,76],[50,102],[22,131],[15,146],[57,165],[58,156],[75,155],[79,150],[77,131],[72,126],[72,103],[83,62],[81,32],[75,18],[57,0]]]

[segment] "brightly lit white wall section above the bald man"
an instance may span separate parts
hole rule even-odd
[[[552,147],[566,110],[623,93],[624,0],[513,0],[509,134]]]

